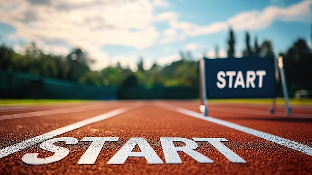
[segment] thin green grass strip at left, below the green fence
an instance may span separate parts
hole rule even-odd
[[[39,105],[63,102],[83,102],[88,100],[62,99],[0,99],[0,105]]]

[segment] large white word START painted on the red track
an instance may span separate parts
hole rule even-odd
[[[94,164],[98,158],[105,142],[116,142],[118,137],[84,137],[81,142],[91,142],[88,149],[81,156],[78,164]],[[22,157],[22,161],[31,165],[50,164],[64,159],[69,150],[64,147],[56,146],[56,142],[65,142],[65,144],[78,144],[78,140],[73,137],[53,138],[42,142],[40,148],[53,152],[54,155],[47,158],[38,158],[39,153],[27,153]],[[225,138],[197,138],[193,140],[180,137],[161,137],[161,146],[163,149],[165,162],[167,164],[181,164],[182,160],[178,151],[183,151],[199,163],[213,163],[213,160],[207,158],[203,154],[195,151],[198,147],[196,142],[208,142],[222,153],[230,162],[246,163],[246,161],[227,148],[222,142],[228,142]],[[174,142],[183,142],[185,146],[175,146]],[[134,152],[133,149],[138,145],[140,152]],[[107,162],[108,164],[124,164],[128,157],[144,157],[149,164],[163,164],[164,162],[156,154],[149,143],[141,137],[130,138],[125,145]]]

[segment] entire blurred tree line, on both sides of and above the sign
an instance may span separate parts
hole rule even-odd
[[[250,44],[250,34],[245,35],[243,56],[274,55],[272,41],[264,40],[259,44],[255,38]],[[235,33],[230,28],[227,40],[228,57],[235,55]],[[216,53],[218,53],[216,46]],[[0,45],[0,68],[12,69],[52,78],[96,85],[117,85],[130,87],[138,84],[151,86],[198,86],[198,60],[190,51],[180,52],[181,60],[161,67],[154,63],[149,69],[143,68],[143,59],[137,63],[137,71],[123,68],[120,63],[108,66],[101,71],[92,71],[90,65],[95,61],[81,48],[73,48],[67,55],[45,53],[30,43],[21,53],[5,44]],[[304,39],[296,40],[286,51],[279,53],[284,57],[285,74],[290,93],[297,89],[312,89],[312,52]],[[218,56],[218,55],[216,55]]]

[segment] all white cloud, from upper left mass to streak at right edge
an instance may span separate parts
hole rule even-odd
[[[0,5],[0,22],[17,28],[17,32],[10,37],[34,41],[48,52],[66,54],[72,47],[82,47],[98,61],[92,68],[100,69],[110,60],[106,53],[99,50],[101,45],[117,44],[144,49],[156,41],[168,43],[217,33],[227,30],[229,25],[235,30],[254,30],[268,27],[274,21],[311,22],[312,18],[312,0],[284,8],[269,6],[262,11],[242,12],[207,26],[180,21],[179,14],[174,11],[153,14],[155,7],[169,5],[165,0],[4,0]],[[159,32],[154,25],[156,22],[167,22],[170,27]],[[196,49],[195,45],[188,47]],[[161,59],[159,64],[178,59],[179,55],[172,55]],[[136,62],[127,60],[126,63],[134,68]]]

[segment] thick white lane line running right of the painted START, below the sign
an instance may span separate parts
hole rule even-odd
[[[235,130],[247,133],[247,134],[251,134],[251,135],[254,135],[256,137],[259,137],[259,138],[262,138],[262,139],[265,139],[265,140],[286,146],[286,147],[291,148],[293,150],[297,150],[299,152],[302,152],[302,153],[305,153],[309,156],[312,156],[312,147],[310,147],[308,145],[304,145],[304,144],[301,144],[301,143],[298,143],[298,142],[295,142],[292,140],[288,140],[288,139],[285,139],[285,138],[282,138],[279,136],[275,136],[273,134],[258,131],[258,130],[248,128],[248,127],[245,127],[242,125],[238,125],[238,124],[235,124],[232,122],[227,122],[227,121],[217,119],[217,118],[214,118],[211,116],[205,117],[200,113],[197,113],[197,112],[194,112],[194,111],[191,111],[188,109],[184,109],[184,108],[180,108],[180,107],[173,107],[173,106],[170,106],[168,104],[163,104],[163,103],[162,104],[157,103],[157,106],[159,106],[163,109],[167,109],[170,111],[176,111],[176,112],[181,113],[181,114],[185,114],[185,115],[195,117],[198,119],[202,119],[202,120],[205,120],[208,122],[223,125],[223,126],[226,126],[226,127],[229,127],[229,128],[232,128],[232,129],[235,129]]]

